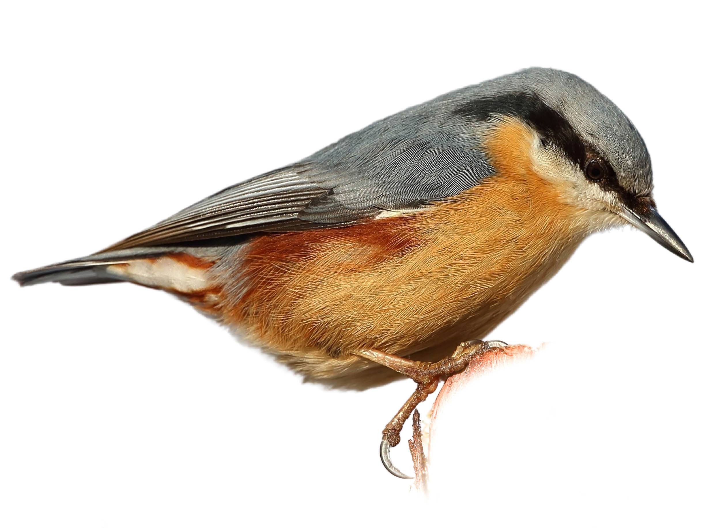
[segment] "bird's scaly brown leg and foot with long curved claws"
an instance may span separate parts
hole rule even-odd
[[[391,419],[391,422],[386,424],[386,427],[384,427],[382,431],[382,445],[380,449],[382,462],[384,463],[384,467],[386,467],[391,474],[396,475],[396,477],[401,477],[402,479],[412,478],[394,467],[389,458],[389,448],[398,445],[398,442],[401,441],[401,429],[410,414],[413,413],[413,410],[415,410],[421,402],[425,401],[430,394],[433,394],[441,378],[447,378],[465,370],[467,365],[470,364],[472,357],[477,355],[477,353],[482,353],[488,351],[490,348],[500,346],[506,346],[506,344],[503,343],[503,341],[479,341],[478,339],[465,341],[455,349],[452,356],[435,362],[413,361],[394,356],[394,354],[370,349],[353,352],[355,356],[367,358],[375,363],[379,363],[379,365],[384,365],[385,367],[396,370],[396,372],[410,377],[410,379],[413,379],[413,381],[417,383],[413,394],[410,395],[410,398],[406,400],[406,403],[398,410],[396,416]]]

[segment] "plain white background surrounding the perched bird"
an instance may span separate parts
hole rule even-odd
[[[166,294],[9,280],[531,65],[577,73],[629,115],[660,213],[704,258],[702,42],[686,4],[253,5],[2,5],[0,525],[403,525],[434,511],[477,525],[701,525],[701,264],[635,230],[588,239],[496,329],[560,353],[524,384],[483,385],[481,412],[456,416],[466,434],[445,439],[456,466],[431,468],[429,503],[377,456],[411,382],[301,384]],[[523,402],[520,427],[510,401]],[[570,410],[570,431],[589,434],[557,442]],[[504,458],[508,435],[521,456]]]

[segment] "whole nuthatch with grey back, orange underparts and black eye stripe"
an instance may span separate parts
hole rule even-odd
[[[577,75],[527,68],[353,132],[21,285],[167,291],[305,379],[363,389],[405,375],[420,401],[590,234],[633,225],[691,253],[653,199],[646,144]],[[461,344],[457,346],[457,343]]]

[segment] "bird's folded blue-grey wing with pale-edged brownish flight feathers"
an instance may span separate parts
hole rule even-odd
[[[427,207],[494,174],[471,137],[427,123],[419,128],[417,111],[407,114],[227,187],[103,251],[349,225],[382,211]],[[409,116],[415,121],[406,122]]]

